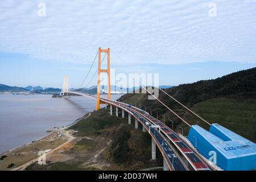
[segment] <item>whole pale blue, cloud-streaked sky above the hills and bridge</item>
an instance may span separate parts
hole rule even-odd
[[[179,85],[256,67],[256,0],[0,2],[0,83],[78,88],[98,47],[115,73]],[[105,67],[106,64],[102,65]],[[96,85],[90,78],[82,86]]]

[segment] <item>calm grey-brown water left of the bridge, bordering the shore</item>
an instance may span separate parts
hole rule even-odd
[[[71,125],[94,109],[91,102],[84,104],[82,99],[67,102],[51,97],[52,94],[0,94],[0,156],[47,137],[55,127]]]

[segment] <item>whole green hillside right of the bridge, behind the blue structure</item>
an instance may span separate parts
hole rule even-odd
[[[191,107],[210,123],[220,123],[243,137],[256,142],[256,68],[232,73],[214,80],[202,80],[193,84],[182,84],[164,89],[165,92],[179,100],[184,105]],[[156,117],[163,120],[165,115],[166,124],[184,134],[188,133],[189,127],[184,125],[174,114],[156,100],[148,100],[147,94],[126,94],[120,101],[141,105]],[[192,114],[176,104],[170,97],[159,90],[159,100],[171,107],[177,114],[183,117],[191,125],[198,124],[205,129],[208,125],[200,121]]]

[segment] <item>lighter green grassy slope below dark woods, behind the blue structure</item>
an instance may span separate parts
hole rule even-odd
[[[256,142],[255,103],[256,100],[249,99],[213,98],[193,105],[192,109],[210,123],[219,123],[241,136]]]

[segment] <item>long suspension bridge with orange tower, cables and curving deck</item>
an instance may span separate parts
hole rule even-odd
[[[105,56],[107,55],[107,68],[102,69],[102,61],[101,59],[101,53],[105,53]],[[110,108],[110,115],[113,115],[113,110],[115,109],[115,115],[116,117],[122,117],[125,118],[125,115],[127,115],[127,122],[129,125],[131,125],[131,119],[134,118],[135,123],[135,129],[138,129],[138,125],[142,126],[142,131],[147,132],[150,134],[152,141],[151,141],[151,159],[156,159],[156,146],[159,148],[160,152],[163,155],[163,169],[164,171],[213,171],[216,168],[212,166],[212,164],[209,163],[209,161],[204,158],[189,142],[188,140],[183,137],[182,135],[179,135],[175,133],[174,130],[170,129],[167,125],[165,125],[162,121],[159,119],[156,119],[152,117],[151,114],[147,113],[145,110],[139,109],[136,106],[125,104],[123,102],[114,101],[111,99],[110,94],[110,49],[101,49],[98,48],[98,52],[93,60],[92,66],[98,56],[98,69],[94,73],[93,77],[97,74],[97,95],[83,93],[82,90],[79,92],[74,90],[68,89],[68,78],[64,77],[63,82],[63,88],[61,90],[61,96],[67,97],[68,95],[75,94],[78,96],[84,96],[89,97],[94,100],[96,100],[96,110],[100,109],[100,105],[104,104],[105,108]],[[92,66],[90,67],[88,73],[86,74],[84,80],[82,81],[82,84],[80,87],[84,84],[86,78],[89,75],[89,72],[92,69]],[[107,98],[101,97],[101,73],[106,73],[108,75],[108,94]],[[89,81],[87,85],[92,82],[93,78]],[[86,85],[86,86],[87,86]],[[86,87],[85,86],[85,87]],[[151,94],[152,97],[155,97],[154,94],[148,91],[147,87],[142,86],[144,90],[148,94]],[[162,90],[162,89],[159,89]],[[162,90],[164,92],[164,90]],[[167,94],[166,92],[164,92]],[[168,94],[167,94],[168,95]],[[172,96],[168,95],[170,98],[174,99]],[[181,118],[179,115],[177,115],[170,107],[165,105],[162,101],[160,101],[158,98],[155,97],[156,100],[158,100],[162,105],[164,105],[168,110],[170,110],[172,113],[176,115],[176,117],[180,118],[182,122],[187,124],[183,118]],[[179,101],[175,100],[180,105],[182,105]],[[184,105],[182,105],[185,107]],[[187,107],[185,109],[189,110]],[[121,115],[119,116],[119,111],[121,111]],[[191,111],[191,110],[189,110]],[[201,118],[196,113],[197,117]],[[203,119],[204,122],[208,123]],[[209,123],[208,123],[209,124]],[[209,124],[210,125],[210,124]]]

